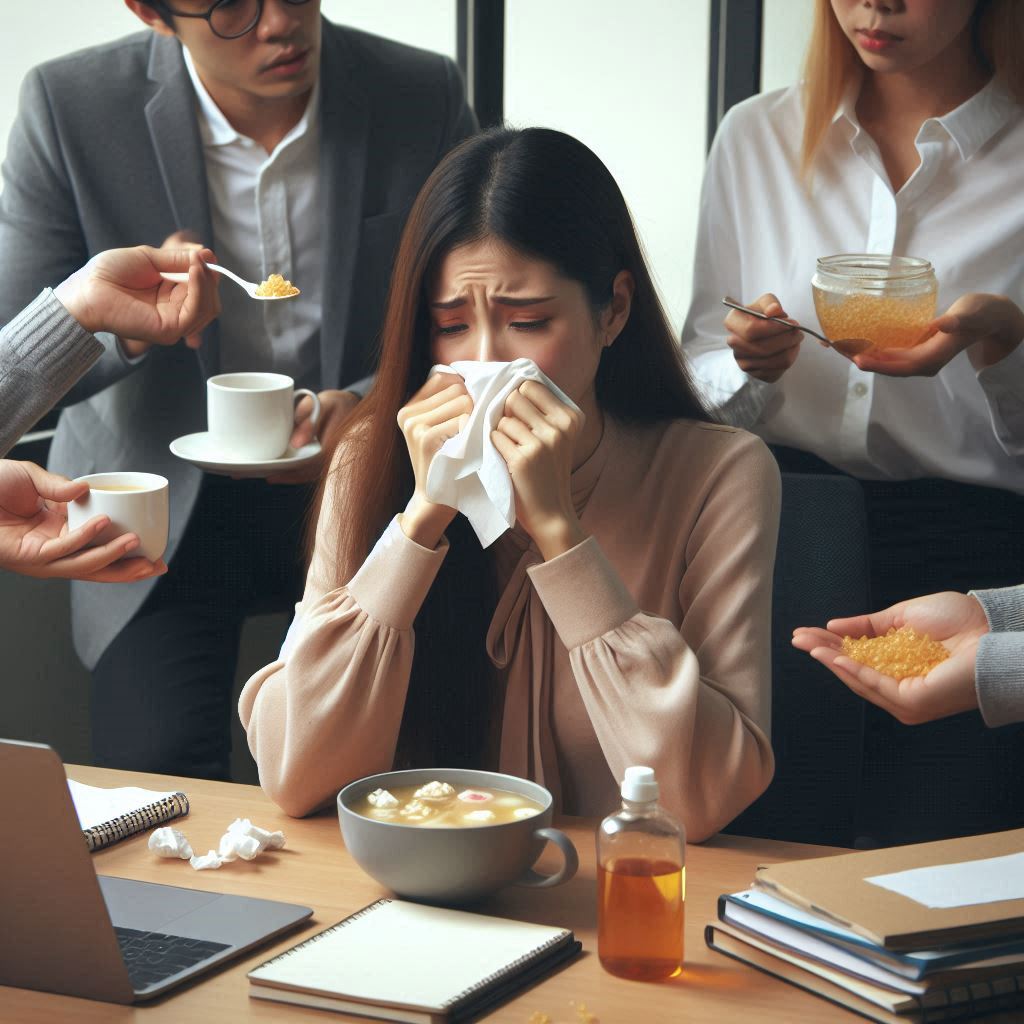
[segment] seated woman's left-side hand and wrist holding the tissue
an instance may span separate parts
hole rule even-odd
[[[416,486],[399,517],[406,536],[425,548],[436,548],[456,510],[427,499],[427,471],[440,446],[465,426],[473,399],[461,377],[434,374],[398,410],[398,427],[406,438]]]

